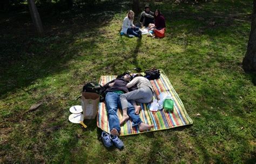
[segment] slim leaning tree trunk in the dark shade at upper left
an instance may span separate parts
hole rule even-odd
[[[36,29],[39,35],[43,35],[44,29],[41,22],[41,18],[36,8],[35,0],[28,0],[28,4],[29,4],[29,10],[33,20],[33,24],[36,26]]]

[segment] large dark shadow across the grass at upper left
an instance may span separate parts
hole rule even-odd
[[[33,84],[37,79],[66,70],[68,62],[79,53],[79,47],[74,46],[76,37],[86,32],[96,35],[98,29],[107,25],[114,17],[114,13],[119,12],[120,9],[113,9],[112,15],[104,18],[96,15],[93,20],[89,19],[89,22],[85,19],[90,18],[90,14],[93,13],[79,13],[78,16],[83,17],[78,18],[76,14],[69,16],[68,19],[62,16],[53,17],[50,21],[44,22],[46,36],[43,38],[33,36],[32,32],[23,33],[24,24],[32,30],[30,20],[25,18],[29,17],[29,13],[17,13],[17,18],[8,19],[8,22],[3,21],[1,26],[10,28],[5,28],[0,33],[3,36],[0,39],[0,97],[5,98],[17,89]],[[41,17],[44,19],[44,15]],[[60,23],[62,19],[65,21]],[[14,26],[16,28],[13,28]],[[85,40],[83,44],[87,49],[97,47],[93,38],[91,41]]]

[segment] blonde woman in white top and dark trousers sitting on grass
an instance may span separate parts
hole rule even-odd
[[[141,38],[142,37],[142,32],[139,31],[139,28],[136,28],[136,26],[134,26],[133,18],[134,18],[134,12],[132,10],[130,10],[127,13],[127,16],[124,18],[122,31],[126,35],[134,35],[136,37]]]

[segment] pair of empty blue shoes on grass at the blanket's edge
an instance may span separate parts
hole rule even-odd
[[[106,132],[102,132],[102,140],[106,147],[111,147],[113,144],[119,148],[124,148],[124,143],[121,141],[117,135],[108,134]]]

